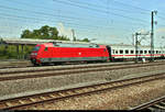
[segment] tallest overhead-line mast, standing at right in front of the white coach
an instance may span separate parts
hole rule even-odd
[[[152,11],[152,22],[151,22],[151,61],[154,61],[154,14],[157,11]]]

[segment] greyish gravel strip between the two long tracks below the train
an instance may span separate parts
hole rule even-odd
[[[0,81],[0,100],[164,71],[165,65]]]

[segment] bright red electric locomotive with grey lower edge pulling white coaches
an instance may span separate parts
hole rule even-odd
[[[96,60],[109,60],[109,52],[105,45],[45,43],[37,44],[31,53],[33,65]]]

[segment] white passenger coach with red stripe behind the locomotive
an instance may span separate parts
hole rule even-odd
[[[138,53],[138,58],[148,59],[151,57],[151,46],[139,45],[136,53],[135,53],[134,45],[111,44],[108,46],[110,46],[112,59],[133,59],[136,57],[136,53]],[[165,47],[164,48],[155,47],[153,56],[154,58],[164,58]]]

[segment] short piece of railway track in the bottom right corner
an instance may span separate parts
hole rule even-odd
[[[165,111],[165,96],[162,98],[154,99],[150,102],[143,103],[141,105],[131,108],[131,110],[146,110],[146,111]]]

